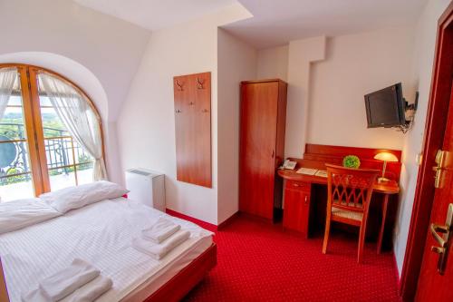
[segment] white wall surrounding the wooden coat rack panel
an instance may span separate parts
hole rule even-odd
[[[217,26],[248,17],[241,5],[154,32],[118,121],[122,167],[164,172],[167,208],[217,224]],[[208,189],[176,180],[173,76],[211,72],[212,177]]]

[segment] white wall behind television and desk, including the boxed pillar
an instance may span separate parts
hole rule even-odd
[[[366,128],[363,95],[402,82],[413,102],[413,44],[410,26],[292,41],[287,58],[285,46],[259,51],[260,78],[288,65],[285,155],[302,157],[306,142],[401,150],[401,132]]]

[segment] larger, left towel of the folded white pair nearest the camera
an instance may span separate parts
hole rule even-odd
[[[50,301],[58,301],[100,274],[101,271],[94,268],[90,263],[75,258],[71,266],[44,278],[39,283],[39,288]]]

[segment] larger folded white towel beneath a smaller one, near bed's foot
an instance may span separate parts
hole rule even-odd
[[[190,237],[188,230],[179,230],[175,235],[165,240],[161,244],[156,244],[146,239],[132,239],[132,247],[138,251],[149,255],[157,260],[164,258],[173,248],[178,247],[181,243]]]

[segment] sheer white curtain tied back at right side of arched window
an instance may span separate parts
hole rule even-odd
[[[89,101],[71,84],[64,83],[50,73],[39,73],[38,81],[72,137],[94,158],[93,180],[107,179],[100,122]]]

